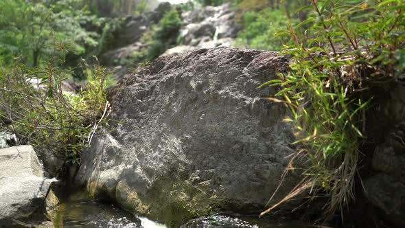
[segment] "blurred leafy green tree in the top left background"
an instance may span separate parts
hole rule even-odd
[[[95,21],[82,0],[0,1],[0,63],[10,64],[13,56],[37,66],[53,52],[51,45],[71,43],[75,54],[97,45],[97,34],[82,26]]]

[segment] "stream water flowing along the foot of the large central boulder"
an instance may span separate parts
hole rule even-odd
[[[148,218],[133,216],[116,205],[86,197],[84,192],[69,194],[57,209],[54,225],[89,228],[167,228]],[[207,216],[192,220],[185,228],[314,228],[300,223],[277,223],[254,217]]]

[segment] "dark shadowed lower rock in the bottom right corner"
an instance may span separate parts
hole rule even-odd
[[[402,130],[393,130],[373,153],[376,172],[364,180],[365,196],[387,223],[405,226],[405,145]]]

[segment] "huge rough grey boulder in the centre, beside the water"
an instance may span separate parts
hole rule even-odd
[[[116,130],[82,154],[76,180],[174,227],[218,209],[264,209],[292,134],[284,107],[262,99],[275,90],[257,87],[287,63],[232,48],[158,58],[113,89]],[[293,185],[288,177],[276,200]]]

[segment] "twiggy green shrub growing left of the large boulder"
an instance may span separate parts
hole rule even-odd
[[[20,144],[78,163],[106,114],[109,73],[104,67],[87,68],[86,89],[74,94],[62,90],[71,71],[56,67],[60,62],[60,56],[55,56],[38,67],[16,60],[11,67],[1,68],[0,128],[16,134]]]

